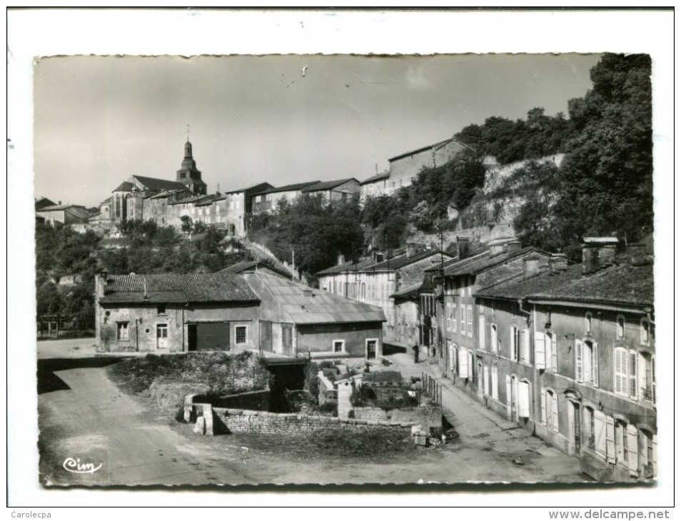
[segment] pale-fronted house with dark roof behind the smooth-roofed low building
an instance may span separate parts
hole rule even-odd
[[[406,248],[375,253],[354,261],[339,259],[343,262],[317,273],[319,287],[328,293],[382,308],[387,318],[383,333],[394,340],[396,315],[392,295],[420,283],[426,269],[451,258],[448,253],[421,248],[410,244]]]

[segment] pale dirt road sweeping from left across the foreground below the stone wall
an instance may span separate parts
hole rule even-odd
[[[96,359],[95,359],[96,360]],[[57,363],[60,385],[39,395],[40,470],[49,485],[236,485],[252,483],[580,482],[578,465],[558,451],[525,444],[495,447],[483,437],[441,449],[375,457],[324,457],[300,440],[248,435],[201,437],[148,404],[121,393],[101,365]],[[40,363],[40,362],[39,362]],[[99,365],[99,367],[97,366]],[[43,374],[50,373],[43,370]],[[543,450],[545,449],[545,450]],[[520,454],[520,452],[522,454]],[[523,456],[525,465],[513,464]],[[71,461],[71,470],[64,468]],[[93,467],[99,470],[87,472]],[[68,464],[66,466],[69,466]]]

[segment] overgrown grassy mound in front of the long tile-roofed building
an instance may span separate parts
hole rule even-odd
[[[182,353],[128,358],[107,368],[123,390],[142,393],[155,380],[208,385],[211,395],[265,389],[269,373],[253,353]]]

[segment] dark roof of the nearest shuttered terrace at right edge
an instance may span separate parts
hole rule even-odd
[[[652,263],[632,265],[624,261],[587,275],[582,275],[581,264],[570,265],[555,274],[545,270],[530,278],[494,285],[475,296],[652,306],[654,293]]]

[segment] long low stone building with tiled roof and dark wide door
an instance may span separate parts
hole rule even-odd
[[[258,348],[258,295],[239,275],[95,279],[100,350],[174,353]]]

